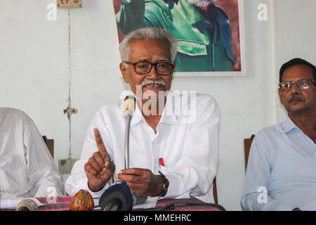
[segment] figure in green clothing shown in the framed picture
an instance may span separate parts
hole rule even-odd
[[[171,32],[178,39],[176,72],[232,71],[230,21],[212,0],[123,0],[116,16],[124,35],[139,27]]]

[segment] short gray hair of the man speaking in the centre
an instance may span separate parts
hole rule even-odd
[[[133,30],[119,44],[121,61],[129,60],[129,44],[132,40],[162,40],[169,43],[171,62],[174,63],[178,49],[178,40],[170,32],[159,27],[142,27]]]

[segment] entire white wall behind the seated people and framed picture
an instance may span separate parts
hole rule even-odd
[[[315,31],[309,34],[311,23],[303,22],[315,21],[315,1],[276,1],[277,67],[301,48],[305,49],[301,57],[312,58]],[[58,9],[56,21],[46,20],[46,6],[50,3],[55,0],[0,0],[0,106],[24,110],[41,134],[55,139],[57,163],[68,157],[70,146],[69,122],[62,113],[68,106],[69,93],[72,108],[78,110],[77,115],[72,115],[72,157],[79,158],[96,110],[117,101],[128,86],[118,76],[112,1],[83,0],[83,8],[71,9],[70,16],[67,9]],[[262,3],[268,6],[268,21],[257,20],[257,6]],[[245,0],[246,77],[173,79],[173,90],[196,90],[218,101],[222,120],[216,179],[219,203],[227,210],[242,210],[243,139],[273,124],[279,114],[275,105],[276,68],[272,67],[275,55],[271,6],[270,0]],[[295,11],[297,8],[301,9]],[[297,27],[291,15],[294,11],[300,21]],[[292,25],[301,34],[291,32]],[[289,33],[293,34],[290,39]],[[293,43],[302,37],[305,39],[295,46]]]

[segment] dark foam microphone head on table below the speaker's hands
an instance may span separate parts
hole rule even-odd
[[[133,195],[125,181],[117,181],[101,195],[99,205],[104,211],[131,211]]]

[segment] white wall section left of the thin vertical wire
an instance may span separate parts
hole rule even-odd
[[[0,0],[0,105],[27,113],[55,139],[55,157],[68,149],[67,13],[46,20],[53,1]]]

